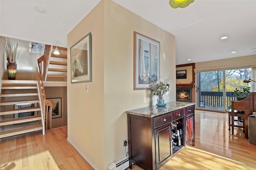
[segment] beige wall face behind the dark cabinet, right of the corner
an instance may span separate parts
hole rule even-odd
[[[105,3],[104,14],[104,114],[106,165],[125,156],[128,138],[125,111],[150,106],[150,90],[133,90],[133,33],[160,42],[160,78],[171,76],[166,102],[175,101],[174,36],[118,4]],[[154,104],[155,105],[155,104]],[[126,148],[126,150],[128,147]]]

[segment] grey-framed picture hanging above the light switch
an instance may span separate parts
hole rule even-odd
[[[70,47],[71,83],[92,82],[92,35]]]

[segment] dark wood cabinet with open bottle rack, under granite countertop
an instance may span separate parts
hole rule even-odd
[[[150,107],[151,108],[151,107]],[[140,109],[138,109],[141,111]],[[150,109],[149,109],[150,110]],[[157,170],[168,162],[173,153],[186,146],[194,145],[194,105],[182,109],[172,109],[167,113],[148,116],[127,111],[129,165],[137,164],[145,170]],[[172,145],[173,123],[180,122],[182,146]]]

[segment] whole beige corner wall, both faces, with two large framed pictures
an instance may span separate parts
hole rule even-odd
[[[170,33],[115,2],[101,1],[68,34],[71,47],[92,33],[92,82],[70,84],[68,78],[68,138],[100,170],[125,156],[125,111],[150,106],[150,90],[133,90],[134,31],[160,41],[160,77],[171,76],[164,98],[175,101],[175,38]]]

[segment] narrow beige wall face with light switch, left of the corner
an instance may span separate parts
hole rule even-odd
[[[104,2],[100,2],[68,33],[68,140],[93,168],[104,159]],[[70,47],[92,33],[92,82],[70,82]],[[88,93],[84,93],[88,85]]]

